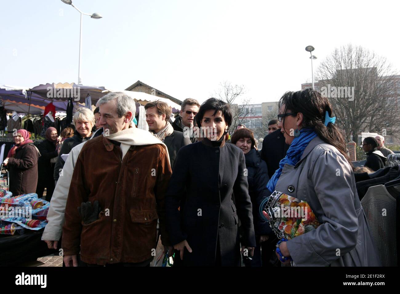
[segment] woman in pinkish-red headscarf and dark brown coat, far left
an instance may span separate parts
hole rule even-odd
[[[18,130],[14,135],[15,146],[3,162],[10,172],[9,190],[13,196],[36,192],[40,153],[29,136],[27,130]]]

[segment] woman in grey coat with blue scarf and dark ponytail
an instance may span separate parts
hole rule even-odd
[[[286,92],[279,108],[291,146],[267,188],[308,202],[320,223],[282,242],[281,254],[296,266],[381,266],[328,99],[312,89]]]

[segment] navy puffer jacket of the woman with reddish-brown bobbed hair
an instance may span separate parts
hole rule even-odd
[[[249,195],[253,205],[254,231],[257,236],[272,233],[269,224],[260,216],[259,208],[264,197],[269,197],[270,192],[266,185],[269,181],[268,168],[256,149],[250,150],[245,156],[248,171],[247,182],[249,184]]]

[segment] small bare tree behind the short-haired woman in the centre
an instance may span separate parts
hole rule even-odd
[[[246,122],[246,117],[251,114],[251,109],[248,107],[251,99],[241,97],[246,94],[244,85],[233,85],[228,81],[220,83],[220,88],[215,94],[224,102],[230,104],[232,110],[232,126],[229,133],[232,134],[238,124]],[[236,101],[240,98],[239,103]]]

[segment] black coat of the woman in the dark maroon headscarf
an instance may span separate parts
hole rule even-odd
[[[38,160],[38,183],[43,185],[48,182],[54,183],[53,173],[55,163],[50,163],[50,159],[57,157],[58,152],[53,142],[49,140],[42,141],[38,146],[40,157]]]

